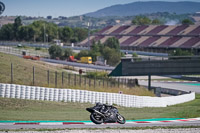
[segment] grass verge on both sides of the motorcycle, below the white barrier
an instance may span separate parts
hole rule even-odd
[[[85,108],[90,106],[93,105],[0,98],[0,120],[89,120]],[[200,94],[191,102],[165,108],[117,108],[127,120],[200,117]]]

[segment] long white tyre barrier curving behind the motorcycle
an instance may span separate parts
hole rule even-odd
[[[124,107],[166,107],[195,99],[195,93],[170,97],[135,96],[86,90],[56,89],[0,83],[0,97],[64,101],[81,103],[107,103]]]

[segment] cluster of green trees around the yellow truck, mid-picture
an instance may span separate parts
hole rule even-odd
[[[111,37],[108,38],[105,43],[93,42],[90,50],[81,50],[79,53],[73,53],[70,48],[62,48],[58,45],[52,45],[49,48],[49,54],[52,59],[62,59],[65,60],[69,58],[69,56],[73,55],[76,59],[80,59],[81,57],[92,57],[92,61],[97,61],[98,56],[102,56],[105,60],[107,60],[108,65],[115,66],[120,62],[121,56],[124,56],[122,52],[120,52],[120,44],[117,38]]]

